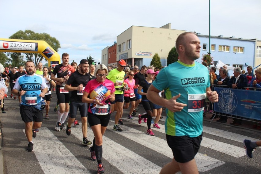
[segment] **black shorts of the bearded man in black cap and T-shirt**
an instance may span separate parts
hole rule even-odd
[[[69,117],[72,119],[76,118],[77,111],[80,111],[81,117],[87,117],[88,104],[87,103],[77,103],[70,101],[70,114]]]

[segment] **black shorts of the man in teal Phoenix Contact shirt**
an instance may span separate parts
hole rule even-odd
[[[174,159],[179,163],[185,163],[194,159],[199,151],[202,134],[198,137],[167,135],[168,146],[172,149]]]

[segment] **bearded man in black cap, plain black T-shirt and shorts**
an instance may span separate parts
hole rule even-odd
[[[87,111],[88,104],[81,101],[83,90],[90,81],[90,75],[88,74],[89,62],[87,59],[82,59],[79,64],[79,69],[76,70],[68,79],[64,89],[67,91],[72,91],[70,98],[70,114],[68,123],[66,124],[66,134],[71,134],[71,125],[74,123],[74,120],[79,109],[81,114],[81,130],[83,135],[82,144],[90,145],[91,141],[87,139]]]

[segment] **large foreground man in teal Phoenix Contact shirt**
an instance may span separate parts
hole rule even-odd
[[[208,69],[195,62],[200,57],[199,38],[184,32],[178,36],[176,48],[179,61],[162,69],[147,92],[150,101],[167,108],[165,133],[174,158],[160,173],[198,174],[194,157],[202,141],[204,102],[206,97],[217,102],[218,94],[210,89]],[[162,90],[166,99],[158,95]]]

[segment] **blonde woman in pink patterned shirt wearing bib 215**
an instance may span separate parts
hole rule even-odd
[[[89,103],[88,122],[94,134],[93,146],[89,150],[91,159],[97,160],[97,173],[104,173],[104,166],[101,162],[102,136],[111,117],[110,101],[115,100],[114,84],[106,79],[108,73],[104,64],[97,65],[94,71],[96,79],[87,83],[82,96],[82,102]]]

